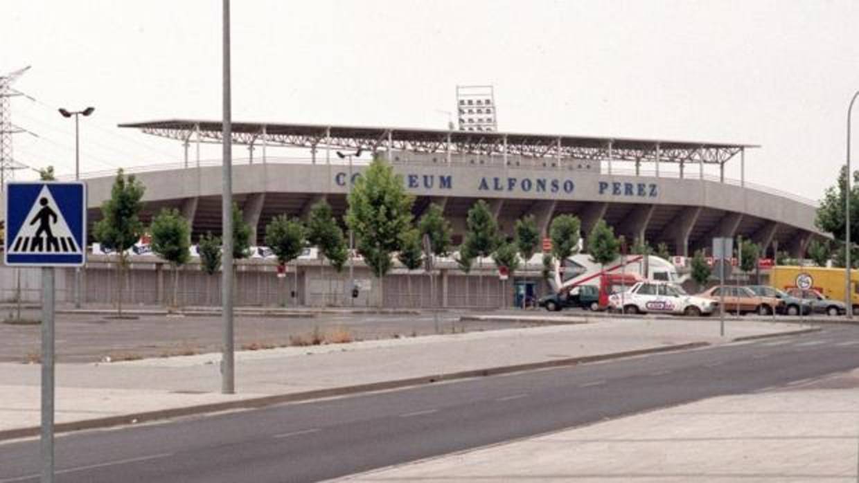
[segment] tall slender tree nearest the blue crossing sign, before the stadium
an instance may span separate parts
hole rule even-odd
[[[117,313],[122,317],[123,272],[128,265],[126,251],[143,234],[140,211],[143,209],[143,192],[146,189],[134,175],[127,178],[122,168],[116,174],[110,198],[101,203],[101,220],[95,226],[93,235],[101,246],[116,251],[117,268]]]

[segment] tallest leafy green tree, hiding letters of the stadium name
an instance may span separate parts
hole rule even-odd
[[[411,227],[414,196],[406,193],[403,177],[381,156],[375,156],[356,179],[349,194],[346,223],[356,238],[358,252],[379,279],[379,305],[384,300],[383,277],[391,269],[391,255],[402,247]]]

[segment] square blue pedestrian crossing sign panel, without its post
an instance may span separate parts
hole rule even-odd
[[[3,253],[9,266],[80,267],[87,254],[87,190],[82,182],[6,184]]]

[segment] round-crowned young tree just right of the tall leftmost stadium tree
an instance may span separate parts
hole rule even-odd
[[[191,259],[191,226],[176,208],[164,208],[152,220],[152,251],[173,267],[173,306],[179,306],[179,269]]]

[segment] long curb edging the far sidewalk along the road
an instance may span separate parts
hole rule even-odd
[[[436,374],[432,376],[408,377],[405,379],[397,379],[394,381],[357,384],[354,386],[344,386],[331,389],[316,389],[293,394],[265,395],[262,397],[244,399],[241,401],[212,402],[210,404],[188,406],[185,408],[168,408],[160,409],[157,411],[145,411],[142,413],[108,416],[105,418],[97,418],[93,420],[56,423],[54,425],[54,432],[73,432],[87,429],[107,428],[112,426],[125,426],[156,420],[168,420],[184,416],[192,416],[195,414],[216,413],[232,409],[265,408],[267,406],[283,404],[287,402],[312,401],[314,399],[322,399],[326,397],[334,397],[340,395],[356,395],[365,392],[373,392],[386,389],[400,389],[427,383],[453,381],[456,379],[466,379],[471,377],[497,376],[500,374],[509,374],[511,372],[533,371],[537,369],[548,369],[552,367],[564,367],[566,365],[587,364],[590,362],[599,362],[608,359],[623,359],[626,357],[634,357],[651,353],[667,353],[708,346],[710,346],[709,342],[688,342],[685,344],[677,344],[673,346],[650,347],[647,349],[637,349],[633,351],[624,351],[619,353],[604,353],[566,359],[543,360],[539,362],[529,362],[524,364],[489,367],[485,369],[472,369],[468,371],[448,372],[445,374]],[[0,431],[0,441],[18,438],[30,438],[38,436],[39,434],[40,426],[3,430]]]

